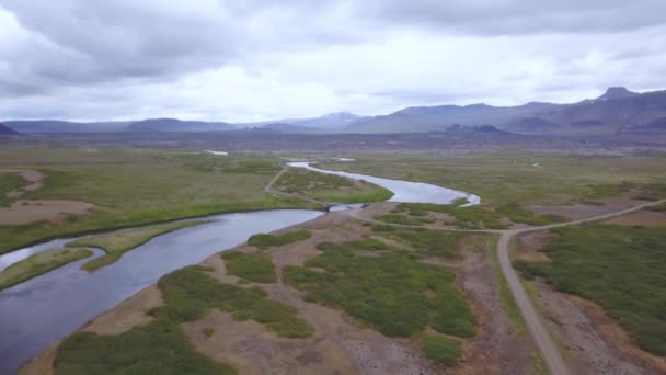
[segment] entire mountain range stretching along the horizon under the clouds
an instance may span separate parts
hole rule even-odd
[[[226,123],[149,118],[135,122],[76,123],[54,120],[7,121],[20,133],[95,132],[228,132],[278,133],[422,133],[459,127],[492,126],[519,134],[613,135],[666,134],[666,91],[632,92],[609,88],[602,95],[577,103],[530,102],[516,106],[487,104],[410,106],[377,116],[337,112],[320,117],[259,123]]]

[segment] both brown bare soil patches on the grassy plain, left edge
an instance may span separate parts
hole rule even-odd
[[[0,169],[0,173],[19,173],[31,184],[7,193],[7,197],[16,200],[26,192],[41,189],[44,174],[27,169]],[[0,207],[0,225],[24,225],[48,220],[61,223],[71,215],[84,215],[95,207],[91,203],[59,200],[18,200],[9,207]]]

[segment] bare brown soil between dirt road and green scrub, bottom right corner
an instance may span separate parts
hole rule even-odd
[[[640,350],[629,333],[592,302],[533,282],[537,303],[559,337],[574,374],[664,374],[666,360]]]

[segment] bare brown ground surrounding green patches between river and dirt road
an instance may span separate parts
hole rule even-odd
[[[374,204],[372,211],[388,208]],[[198,351],[211,359],[233,365],[241,374],[434,374],[461,373],[528,374],[532,346],[526,334],[515,333],[504,315],[497,281],[493,274],[489,251],[493,240],[485,235],[471,235],[459,243],[460,257],[447,264],[458,274],[459,286],[470,296],[473,312],[480,323],[480,333],[468,340],[466,354],[455,368],[435,367],[410,339],[388,338],[343,311],[308,303],[300,292],[286,285],[282,269],[301,265],[319,254],[315,245],[322,241],[349,241],[370,234],[363,221],[354,219],[349,212],[332,212],[314,220],[283,229],[308,229],[308,240],[273,248],[272,257],[278,282],[257,284],[275,299],[296,307],[301,317],[315,328],[308,339],[280,338],[254,321],[237,321],[227,312],[214,310],[197,321],[184,323],[183,330]],[[260,251],[251,246],[234,250]],[[221,282],[236,283],[228,275],[225,261],[215,254],[202,264],[213,268],[210,274]],[[160,292],[151,286],[126,299],[114,309],[99,316],[83,330],[101,334],[117,334],[135,325],[150,321],[146,309],[161,304]],[[213,328],[213,334],[204,330]],[[48,374],[53,371],[55,349],[43,352],[24,368],[27,374]]]

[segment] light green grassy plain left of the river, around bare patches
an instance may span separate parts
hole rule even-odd
[[[8,167],[45,173],[44,188],[25,198],[85,201],[96,205],[65,223],[0,226],[0,253],[49,238],[157,224],[186,217],[264,208],[312,208],[263,189],[279,171],[272,156],[217,157],[176,150],[0,150]],[[319,207],[317,207],[319,208]]]

